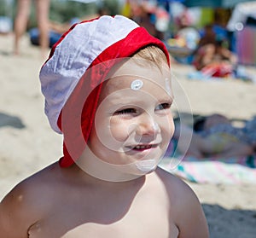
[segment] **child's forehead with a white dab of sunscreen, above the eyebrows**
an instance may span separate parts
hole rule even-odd
[[[101,100],[107,96],[141,96],[140,92],[172,97],[171,71],[166,63],[156,66],[153,62],[132,58],[111,73],[103,84]],[[125,90],[125,91],[124,91]]]

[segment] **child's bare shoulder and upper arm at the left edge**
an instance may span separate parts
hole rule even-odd
[[[44,217],[50,209],[48,200],[54,196],[58,166],[49,165],[27,177],[7,194],[0,203],[0,234],[6,238],[27,237],[27,229]]]

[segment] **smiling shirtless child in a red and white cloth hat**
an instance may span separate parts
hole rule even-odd
[[[81,22],[40,72],[64,156],[1,202],[0,234],[208,237],[195,194],[157,164],[172,137],[169,56],[123,16]]]

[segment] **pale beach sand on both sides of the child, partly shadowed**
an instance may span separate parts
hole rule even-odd
[[[44,60],[38,47],[22,39],[22,55],[11,54],[12,34],[0,36],[0,199],[15,184],[61,157],[62,137],[44,115],[38,72]],[[256,73],[255,68],[247,68]],[[256,84],[241,80],[190,80],[191,66],[173,63],[183,115],[224,113],[230,119],[256,115]],[[256,75],[256,74],[255,74]],[[184,105],[183,97],[187,98]],[[212,238],[256,237],[256,188],[252,184],[196,184]],[[188,211],[189,213],[189,211]]]

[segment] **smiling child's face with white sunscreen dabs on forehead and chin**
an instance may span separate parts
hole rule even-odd
[[[100,160],[153,171],[174,131],[171,73],[128,61],[102,87],[89,148]]]

